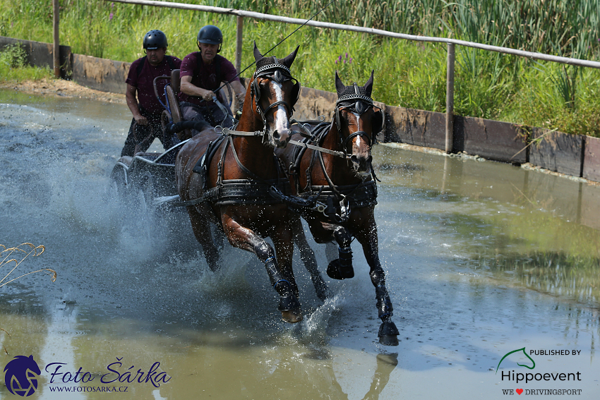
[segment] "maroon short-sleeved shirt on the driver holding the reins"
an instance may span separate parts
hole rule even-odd
[[[217,66],[220,66],[218,73]],[[205,64],[202,61],[202,56],[200,56],[200,51],[194,51],[185,56],[184,61],[181,63],[181,72],[179,73],[181,77],[191,76],[192,85],[205,90],[212,90],[213,92],[221,86],[221,82],[239,81],[236,75],[236,68],[231,61],[217,54],[212,63]],[[200,106],[209,103],[205,102],[201,97],[188,96],[184,92],[179,92],[179,101],[190,102]]]

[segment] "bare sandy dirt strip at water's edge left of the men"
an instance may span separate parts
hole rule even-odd
[[[53,95],[80,97],[86,99],[95,99],[101,102],[123,103],[125,104],[124,93],[109,93],[93,90],[89,87],[78,85],[72,80],[61,79],[42,79],[25,80],[23,82],[1,82],[0,89],[16,90],[23,93],[33,93],[37,95]]]

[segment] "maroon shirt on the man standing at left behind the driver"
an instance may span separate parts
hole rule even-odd
[[[162,110],[164,109],[156,95],[154,93],[153,82],[157,76],[167,75],[171,76],[171,66],[169,61],[167,61],[167,57],[171,57],[171,63],[173,64],[173,69],[177,69],[181,67],[181,60],[174,56],[164,56],[162,62],[157,66],[153,66],[148,59],[142,57],[141,59],[137,59],[131,63],[129,67],[129,73],[127,75],[126,83],[133,87],[137,87],[138,89],[138,102],[140,106],[147,111],[149,114],[155,114],[155,116],[160,117],[162,114]],[[143,62],[142,69],[140,74],[138,75],[138,67],[140,63]],[[160,79],[157,80],[157,90],[160,95],[160,100],[167,104],[164,99],[164,85],[167,85],[169,80]]]

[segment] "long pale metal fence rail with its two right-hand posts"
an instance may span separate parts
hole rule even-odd
[[[413,40],[415,42],[433,42],[433,43],[446,43],[448,44],[448,73],[447,73],[447,86],[446,86],[446,144],[445,151],[452,152],[452,122],[454,119],[454,63],[455,63],[455,45],[474,47],[475,49],[497,51],[504,54],[512,54],[515,56],[527,57],[529,59],[536,59],[542,61],[553,61],[556,63],[565,63],[572,66],[583,66],[589,68],[600,68],[600,62],[589,61],[582,59],[571,59],[569,57],[552,56],[550,54],[536,53],[532,51],[524,51],[517,49],[510,49],[509,47],[491,46],[488,44],[481,44],[476,42],[467,42],[465,40],[448,39],[445,37],[429,37],[429,36],[418,36],[418,35],[406,35],[404,33],[390,32],[388,30],[380,30],[373,28],[363,28],[354,25],[343,25],[339,23],[325,23],[315,20],[305,20],[301,18],[289,18],[284,16],[274,16],[271,14],[256,13],[253,11],[236,10],[235,8],[222,8],[213,6],[201,6],[197,4],[185,4],[185,3],[171,3],[167,1],[153,1],[153,0],[104,0],[104,1],[115,1],[118,3],[125,4],[138,4],[142,6],[156,6],[156,7],[167,7],[167,8],[179,8],[182,10],[191,11],[204,11],[207,13],[219,13],[229,16],[236,16],[237,20],[237,40],[236,40],[236,62],[235,66],[238,71],[241,68],[241,41],[242,41],[242,28],[243,18],[253,18],[256,20],[269,20],[279,23],[289,23],[294,25],[309,25],[316,28],[335,29],[335,30],[347,30],[351,32],[368,33],[370,35],[379,35],[385,37],[393,37],[395,39]]]

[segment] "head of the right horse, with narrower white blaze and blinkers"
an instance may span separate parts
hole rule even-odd
[[[352,154],[354,172],[366,178],[371,174],[371,146],[383,128],[383,111],[375,111],[371,92],[373,71],[364,86],[344,85],[335,71],[335,125],[345,154]],[[349,149],[349,147],[352,147]]]

